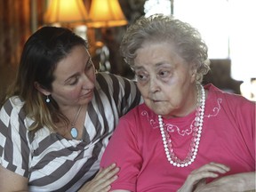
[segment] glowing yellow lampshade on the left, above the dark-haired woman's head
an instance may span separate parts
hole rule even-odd
[[[60,25],[84,24],[89,20],[82,0],[51,0],[44,14],[45,24]]]

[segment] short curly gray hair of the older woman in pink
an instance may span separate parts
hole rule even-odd
[[[200,33],[186,22],[172,16],[154,14],[140,17],[127,28],[121,42],[120,51],[124,60],[132,67],[136,51],[145,41],[175,44],[180,57],[196,67],[196,81],[202,82],[203,76],[210,69],[208,48]]]

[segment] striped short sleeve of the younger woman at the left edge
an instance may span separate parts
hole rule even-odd
[[[28,177],[29,148],[22,112],[8,100],[0,110],[0,164]]]

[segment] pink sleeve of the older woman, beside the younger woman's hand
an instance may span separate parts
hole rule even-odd
[[[136,191],[136,180],[140,172],[142,157],[138,147],[138,134],[134,132],[135,124],[123,116],[102,156],[100,166],[107,167],[115,162],[120,168],[118,179],[111,189]]]

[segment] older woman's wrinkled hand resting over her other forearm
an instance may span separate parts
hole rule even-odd
[[[188,175],[187,180],[183,186],[178,190],[179,192],[191,192],[195,188],[197,191],[203,188],[207,178],[217,178],[219,173],[226,173],[229,171],[228,166],[224,164],[210,163],[204,164],[202,167],[194,170]]]

